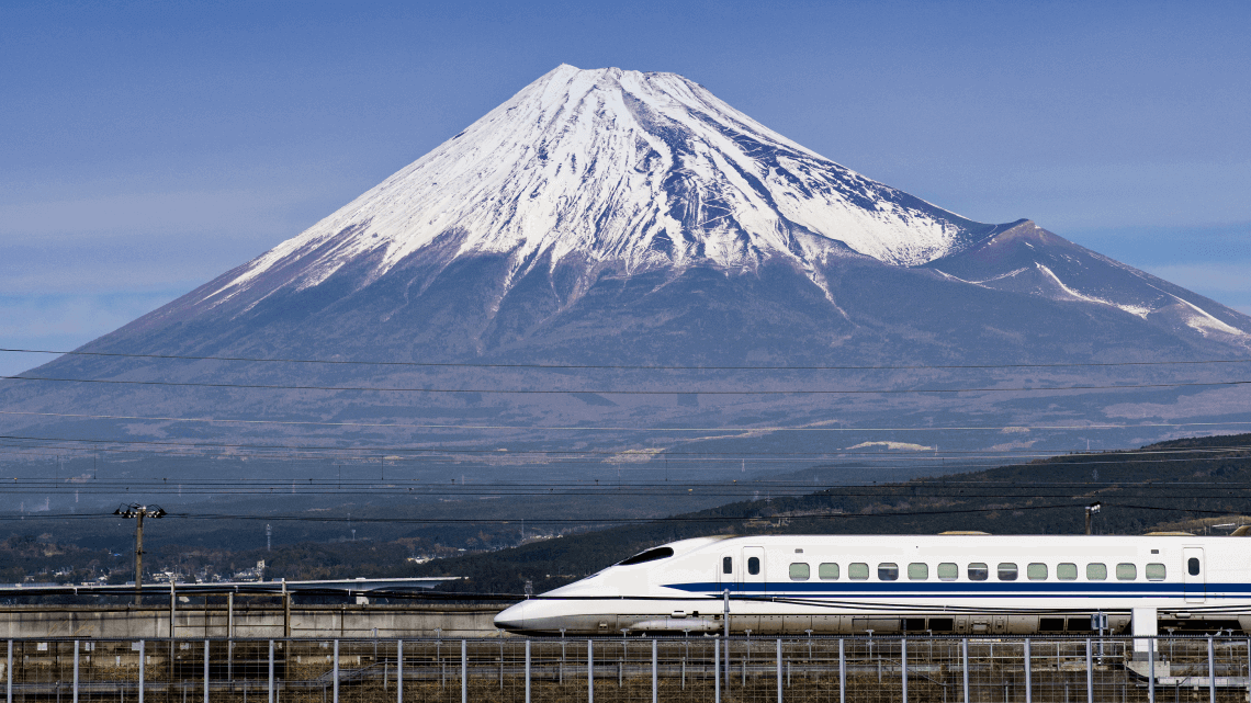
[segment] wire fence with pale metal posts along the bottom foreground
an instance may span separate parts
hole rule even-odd
[[[9,703],[1251,699],[1251,639],[11,639]]]

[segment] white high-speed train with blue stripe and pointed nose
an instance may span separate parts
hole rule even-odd
[[[565,635],[1090,633],[1105,622],[1105,632],[1136,635],[1251,632],[1251,540],[706,537],[648,549],[495,617],[504,630]]]

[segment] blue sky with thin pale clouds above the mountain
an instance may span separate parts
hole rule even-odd
[[[560,63],[681,73],[873,179],[1251,313],[1247,26],[1246,1],[6,0],[0,346],[186,293]]]

